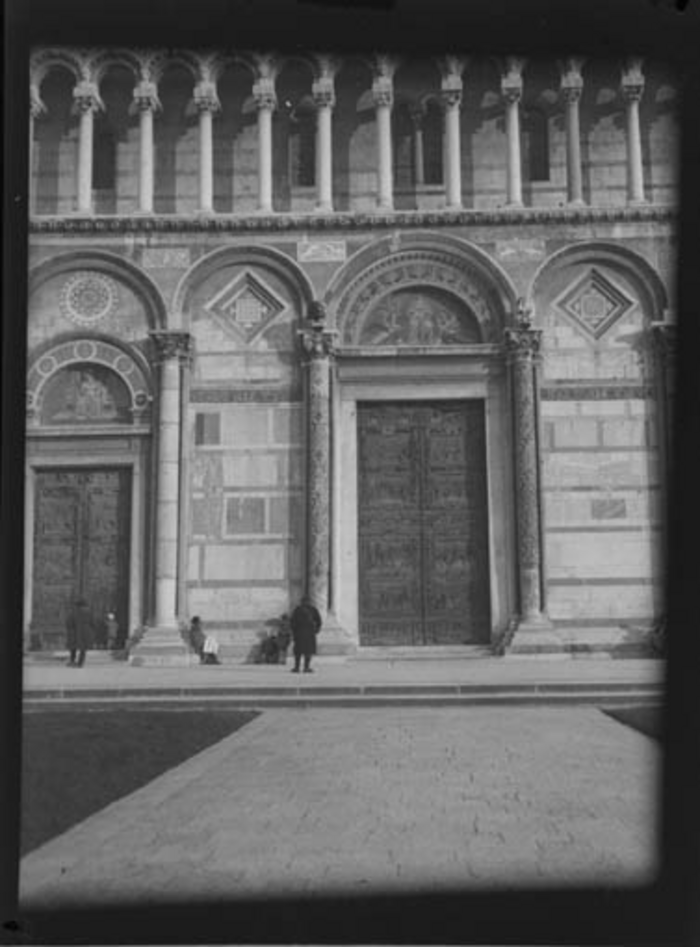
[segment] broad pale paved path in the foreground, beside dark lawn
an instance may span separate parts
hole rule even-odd
[[[21,904],[644,883],[658,767],[594,707],[268,711],[31,852]]]

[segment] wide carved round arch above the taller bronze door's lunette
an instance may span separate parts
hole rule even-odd
[[[457,237],[416,232],[382,237],[335,274],[324,298],[339,338],[348,342],[368,307],[398,289],[434,287],[460,300],[479,322],[483,342],[500,342],[516,292],[483,251]]]

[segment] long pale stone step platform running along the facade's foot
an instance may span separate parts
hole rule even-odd
[[[133,667],[122,662],[84,668],[27,662],[27,699],[197,699],[256,706],[303,703],[600,702],[659,699],[664,664],[649,659],[455,658],[360,660],[320,658],[314,674],[290,665]]]

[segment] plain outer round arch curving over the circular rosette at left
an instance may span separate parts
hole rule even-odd
[[[42,260],[29,272],[29,294],[47,279],[72,270],[93,269],[124,282],[144,303],[151,329],[165,328],[167,310],[156,284],[143,270],[114,253],[104,250],[80,250]]]

